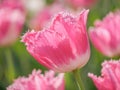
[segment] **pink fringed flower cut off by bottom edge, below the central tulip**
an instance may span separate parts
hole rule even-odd
[[[55,76],[53,71],[45,75],[41,71],[33,70],[29,77],[19,77],[7,90],[64,90],[64,74]]]

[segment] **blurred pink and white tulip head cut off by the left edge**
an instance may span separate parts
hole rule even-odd
[[[15,3],[4,2],[0,5],[0,46],[13,43],[19,36],[25,14]]]

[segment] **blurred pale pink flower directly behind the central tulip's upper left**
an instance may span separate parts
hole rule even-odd
[[[34,30],[43,29],[45,25],[47,26],[49,24],[48,22],[51,20],[53,15],[60,11],[63,11],[63,7],[56,3],[52,6],[45,7],[30,20],[30,28]]]

